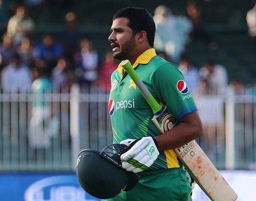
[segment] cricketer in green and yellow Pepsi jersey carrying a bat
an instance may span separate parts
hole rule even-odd
[[[172,130],[160,134],[151,122],[153,113],[148,103],[127,72],[121,65],[118,66],[111,76],[108,108],[114,143],[131,147],[121,155],[122,167],[128,171],[141,171],[129,161],[137,160],[139,155],[145,153],[145,142],[150,142],[155,153],[159,151],[159,156],[145,156],[144,161],[140,160],[140,164],[148,168],[142,172],[139,183],[131,191],[122,192],[110,201],[192,200],[189,178],[172,149],[200,137],[203,128],[192,96],[183,99],[183,90],[177,88],[177,82],[183,82],[186,87],[177,66],[155,54],[152,48],[154,34],[154,20],[148,11],[143,8],[123,8],[113,17],[108,40],[113,48],[113,57],[129,59],[154,98],[167,105],[179,123]],[[186,92],[186,95],[190,94],[190,91]],[[140,148],[141,151],[134,155],[134,151]]]

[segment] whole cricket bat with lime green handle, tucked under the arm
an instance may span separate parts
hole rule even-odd
[[[123,61],[121,65],[150,105],[154,113],[152,118],[154,125],[161,133],[171,130],[177,123],[175,117],[168,113],[166,106],[161,106],[154,99],[129,60]],[[236,192],[221,176],[195,140],[175,148],[174,151],[192,178],[212,201],[235,201],[237,199]]]

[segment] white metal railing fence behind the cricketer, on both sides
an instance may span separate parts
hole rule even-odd
[[[39,107],[35,100],[41,100]],[[205,134],[199,144],[219,169],[256,170],[256,96],[195,97]],[[108,94],[0,93],[0,171],[72,171],[82,148],[113,140]]]

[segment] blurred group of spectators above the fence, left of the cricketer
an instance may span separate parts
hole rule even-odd
[[[111,52],[107,51],[102,61],[93,43],[78,30],[76,15],[69,12],[65,20],[65,29],[58,36],[46,33],[41,41],[35,41],[34,20],[25,6],[17,7],[0,44],[4,91],[69,91],[74,82],[97,83],[103,92],[109,91],[110,76],[117,68]]]

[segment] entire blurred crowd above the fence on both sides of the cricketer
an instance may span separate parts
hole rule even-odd
[[[250,24],[255,13],[253,8],[247,14]],[[223,65],[209,59],[204,66],[195,66],[186,54],[189,44],[195,40],[203,41],[209,48],[218,47],[204,28],[201,8],[195,1],[187,3],[186,15],[174,15],[167,6],[158,6],[154,20],[154,48],[161,57],[179,67],[192,93],[225,94],[228,84],[237,93],[244,93],[239,79],[228,81]],[[58,35],[45,31],[41,40],[35,40],[35,21],[26,6],[16,6],[15,14],[7,22],[0,44],[0,84],[4,91],[70,91],[74,82],[100,85],[103,92],[110,90],[110,76],[118,61],[113,59],[111,51],[106,51],[103,57],[99,55],[93,42],[79,31],[75,13],[65,15],[65,28]]]

